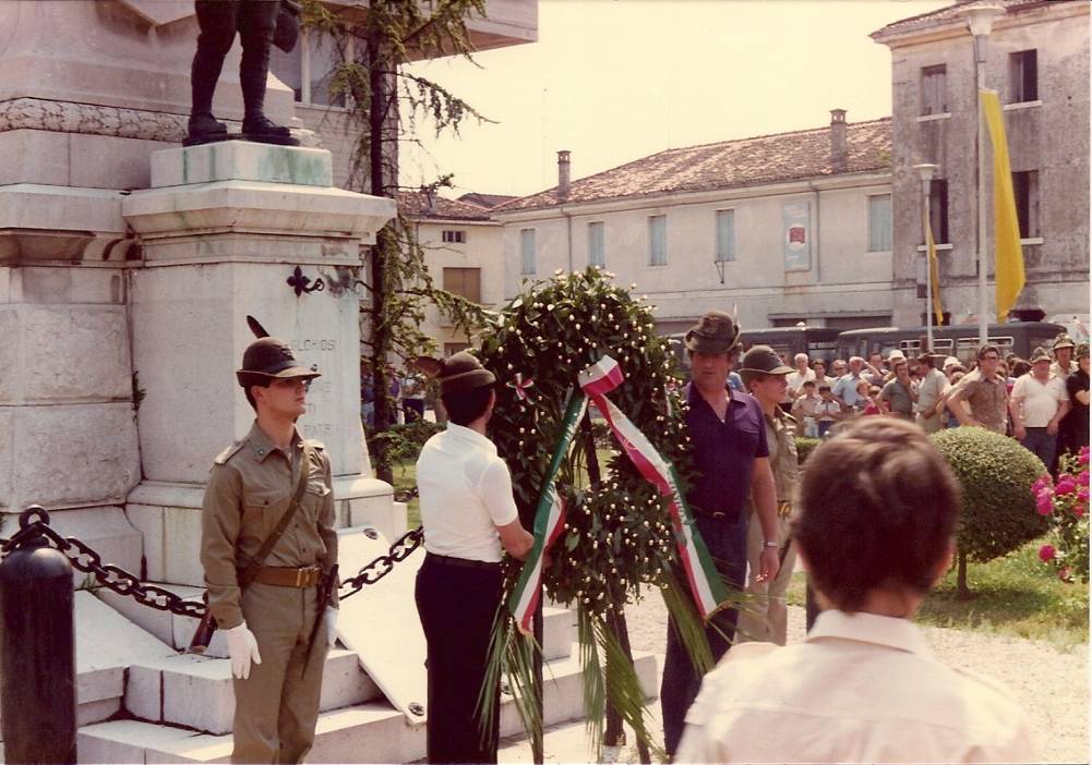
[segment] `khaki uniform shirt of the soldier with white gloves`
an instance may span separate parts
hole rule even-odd
[[[322,444],[307,443],[311,447],[307,488],[299,509],[262,565],[318,564],[325,574],[337,562],[333,479]],[[201,565],[209,606],[222,629],[244,621],[238,570],[247,565],[288,510],[299,482],[302,450],[298,432],[290,453],[285,453],[254,422],[247,438],[224,450],[212,466],[201,511]],[[336,587],[330,605],[337,606]]]

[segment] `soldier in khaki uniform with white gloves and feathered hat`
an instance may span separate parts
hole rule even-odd
[[[319,374],[299,366],[286,342],[262,337],[247,348],[236,376],[258,416],[212,466],[201,535],[209,607],[232,658],[232,762],[297,763],[314,740],[337,618],[330,458],[295,425]],[[275,543],[254,560],[271,535]],[[250,584],[240,587],[254,564]]]

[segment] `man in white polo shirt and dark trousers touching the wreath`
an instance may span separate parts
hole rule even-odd
[[[496,763],[499,715],[483,740],[477,702],[500,606],[500,559],[507,550],[523,560],[534,538],[520,524],[508,465],[485,434],[497,403],[492,372],[466,351],[420,358],[417,366],[439,379],[449,420],[417,459],[427,551],[416,600],[428,643],[428,762]]]

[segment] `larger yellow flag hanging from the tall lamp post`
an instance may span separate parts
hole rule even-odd
[[[997,321],[1004,322],[1024,286],[1020,220],[1012,193],[1012,168],[1005,138],[1005,117],[996,91],[981,91],[982,113],[994,145],[994,275],[997,280]],[[981,158],[980,158],[981,162]]]

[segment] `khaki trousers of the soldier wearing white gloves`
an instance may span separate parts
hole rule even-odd
[[[234,680],[233,763],[298,763],[310,751],[328,650],[324,611],[317,587],[254,583],[244,591],[242,617],[258,638],[262,662],[250,666],[247,680]]]

